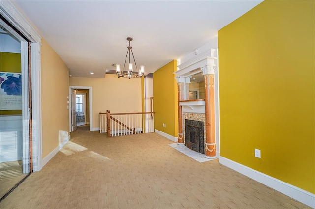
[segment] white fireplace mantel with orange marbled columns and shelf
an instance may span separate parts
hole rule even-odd
[[[205,49],[205,48],[204,48]],[[195,52],[188,59],[178,65],[175,72],[178,89],[178,144],[184,145],[185,132],[183,132],[184,115],[189,117],[203,117],[205,124],[205,156],[206,158],[216,158],[216,136],[215,131],[215,79],[217,78],[217,57],[215,49],[205,49],[204,52]],[[204,100],[186,100],[189,98],[190,78],[202,72],[204,76]],[[192,78],[193,79],[193,78]],[[198,98],[198,97],[194,97]]]

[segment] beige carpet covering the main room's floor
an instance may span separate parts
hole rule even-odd
[[[107,138],[80,127],[5,208],[308,208],[217,160],[199,163],[156,133]]]

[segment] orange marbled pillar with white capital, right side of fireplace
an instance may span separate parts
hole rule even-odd
[[[205,112],[206,112],[206,158],[216,158],[216,138],[215,138],[215,95],[214,95],[214,49],[211,49],[211,57],[208,57],[208,64],[201,67],[205,78]]]

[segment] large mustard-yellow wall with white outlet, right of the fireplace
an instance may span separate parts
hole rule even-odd
[[[313,194],[314,8],[264,1],[218,32],[221,156]]]

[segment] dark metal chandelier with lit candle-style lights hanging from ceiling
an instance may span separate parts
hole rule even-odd
[[[127,47],[128,51],[127,51],[124,67],[123,67],[123,70],[121,71],[120,70],[120,64],[116,65],[117,76],[118,76],[118,78],[124,77],[124,78],[129,78],[129,79],[130,78],[142,78],[142,76],[144,75],[144,65],[141,65],[140,69],[138,70],[137,63],[136,63],[136,60],[134,59],[134,55],[132,52],[132,47],[130,46],[130,41],[132,41],[133,39],[131,37],[128,37],[127,40],[129,41],[129,46]],[[129,69],[127,71],[124,71],[128,54],[129,54]],[[136,71],[133,71],[133,64],[130,60],[131,54],[132,54],[132,58],[134,61],[134,65],[136,66],[136,69],[137,69]]]

